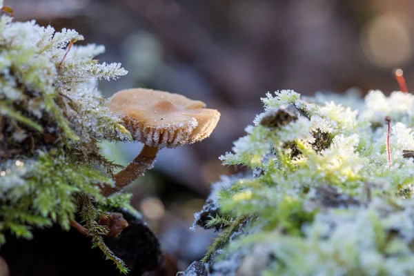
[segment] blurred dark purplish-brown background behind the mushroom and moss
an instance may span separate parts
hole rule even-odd
[[[160,275],[200,259],[215,233],[190,232],[193,213],[220,175],[220,165],[262,108],[281,89],[302,95],[352,88],[397,90],[395,68],[414,88],[414,1],[411,0],[5,0],[18,21],[75,28],[99,43],[101,62],[129,71],[101,81],[106,97],[126,88],[166,90],[205,101],[221,112],[209,139],[163,149],[155,168],[129,191],[166,252]],[[104,144],[128,164],[140,144]],[[164,273],[164,274],[163,274]]]

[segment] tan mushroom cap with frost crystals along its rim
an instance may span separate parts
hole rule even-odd
[[[108,108],[124,121],[132,137],[158,148],[175,148],[210,136],[220,113],[182,95],[133,88],[110,98]]]

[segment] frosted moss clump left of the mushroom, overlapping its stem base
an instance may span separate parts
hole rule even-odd
[[[0,16],[0,244],[6,231],[30,239],[33,228],[68,230],[79,213],[93,246],[126,272],[97,224],[104,209],[129,206],[99,188],[121,167],[101,155],[99,142],[128,141],[130,133],[105,107],[97,80],[126,70],[93,59],[103,46],[72,46],[82,39],[75,30]]]

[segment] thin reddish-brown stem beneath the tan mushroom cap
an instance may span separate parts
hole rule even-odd
[[[139,155],[124,170],[121,170],[114,176],[115,187],[104,185],[101,188],[101,194],[108,197],[128,186],[128,184],[140,177],[146,170],[152,168],[155,157],[157,157],[157,152],[158,148],[144,145]]]

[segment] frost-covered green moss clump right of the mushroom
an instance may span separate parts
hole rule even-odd
[[[262,99],[265,112],[233,153],[220,157],[224,165],[248,166],[253,176],[213,186],[204,224],[222,232],[203,273],[414,274],[414,162],[407,153],[414,150],[414,96],[375,90],[364,102],[351,99],[343,99],[351,106],[312,103],[291,90]],[[269,120],[280,112],[272,110],[289,105],[300,110],[295,119]]]

